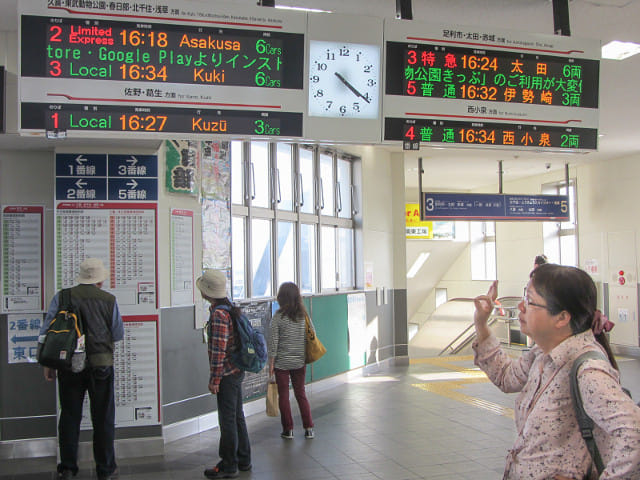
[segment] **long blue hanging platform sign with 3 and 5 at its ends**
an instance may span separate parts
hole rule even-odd
[[[422,220],[569,220],[567,195],[422,193]]]

